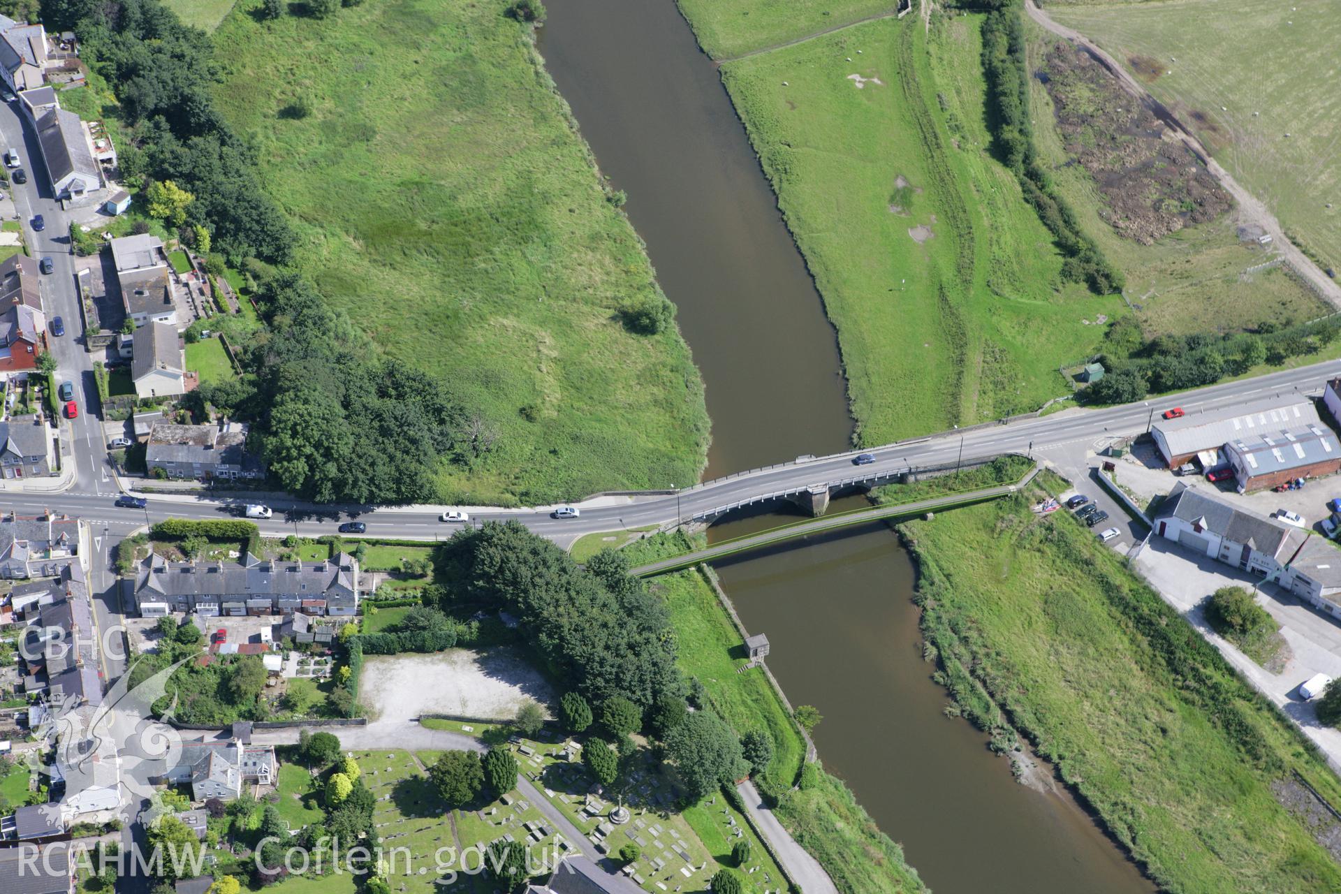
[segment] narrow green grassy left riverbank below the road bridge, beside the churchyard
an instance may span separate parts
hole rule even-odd
[[[658,535],[621,550],[630,566],[701,546],[703,537]],[[738,733],[767,732],[774,757],[756,775],[760,792],[774,800],[775,814],[802,847],[815,856],[841,891],[913,894],[921,891],[917,871],[904,862],[902,848],[880,831],[842,780],[821,764],[803,764],[806,741],[787,706],[762,667],[747,672],[744,643],[717,599],[711,579],[699,568],[661,575],[650,591],[664,599],[679,643],[679,665],[695,697]],[[793,788],[797,785],[797,788]]]

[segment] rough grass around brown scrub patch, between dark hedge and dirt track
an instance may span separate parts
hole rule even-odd
[[[1144,7],[1143,7],[1144,9]],[[1026,20],[1030,68],[1042,67],[1055,38]],[[1220,332],[1314,319],[1329,307],[1278,268],[1243,272],[1266,260],[1255,244],[1242,243],[1234,212],[1177,231],[1153,245],[1120,236],[1100,217],[1104,197],[1080,165],[1067,165],[1053,102],[1039,79],[1030,79],[1034,142],[1053,181],[1089,233],[1126,276],[1126,294],[1140,306],[1141,327],[1151,338],[1165,332]],[[1251,247],[1250,247],[1251,245]]]

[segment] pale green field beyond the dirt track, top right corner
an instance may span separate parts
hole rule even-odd
[[[1228,0],[1049,4],[1049,15],[1137,74],[1324,267],[1341,268],[1333,0],[1252,13]]]

